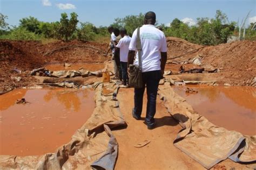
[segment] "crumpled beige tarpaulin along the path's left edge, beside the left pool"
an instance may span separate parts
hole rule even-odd
[[[55,153],[38,156],[0,155],[0,169],[90,169],[91,165],[113,169],[118,145],[110,129],[126,125],[119,103],[112,97],[118,87],[113,83],[96,82],[93,88],[96,90],[95,110],[68,144]],[[107,95],[106,90],[110,91]]]

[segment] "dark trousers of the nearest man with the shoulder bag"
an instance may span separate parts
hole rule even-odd
[[[143,87],[134,89],[134,114],[137,117],[142,115],[143,95],[145,87],[147,88],[147,110],[146,123],[147,126],[154,125],[154,115],[156,114],[157,89],[161,78],[161,71],[150,71],[142,73]]]

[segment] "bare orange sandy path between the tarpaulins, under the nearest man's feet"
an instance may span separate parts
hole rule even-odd
[[[146,111],[144,94],[142,119],[137,121],[131,115],[133,108],[133,89],[120,89],[117,95],[120,109],[127,123],[126,129],[114,130],[119,151],[115,169],[205,169],[198,162],[181,152],[173,145],[173,140],[181,126],[170,116],[163,101],[157,98],[156,128],[148,130],[143,123]],[[144,147],[134,147],[144,140],[151,142]],[[220,162],[212,169],[246,169],[229,159]]]

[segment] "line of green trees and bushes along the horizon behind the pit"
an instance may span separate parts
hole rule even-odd
[[[18,26],[9,26],[6,23],[8,16],[0,13],[0,39],[11,40],[41,40],[59,39],[63,41],[80,40],[91,41],[97,37],[108,37],[106,26],[96,27],[89,22],[79,22],[75,12],[62,13],[57,22],[42,22],[35,17],[27,17],[19,20]],[[125,27],[128,34],[143,25],[144,14],[129,15],[124,18],[114,19],[113,27],[119,29]],[[197,18],[197,24],[190,26],[178,18],[172,20],[170,25],[157,24],[166,37],[178,37],[201,45],[217,45],[225,43],[230,36],[238,36],[237,23],[229,22],[225,13],[216,11],[214,18]],[[256,40],[255,23],[246,28],[246,39]]]

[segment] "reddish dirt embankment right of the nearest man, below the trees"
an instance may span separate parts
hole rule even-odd
[[[167,44],[169,58],[194,50],[192,53],[168,61],[182,62],[201,55],[203,65],[220,69],[220,76],[223,77],[224,83],[245,85],[256,76],[255,41],[235,41],[203,47],[180,38],[167,37]]]

